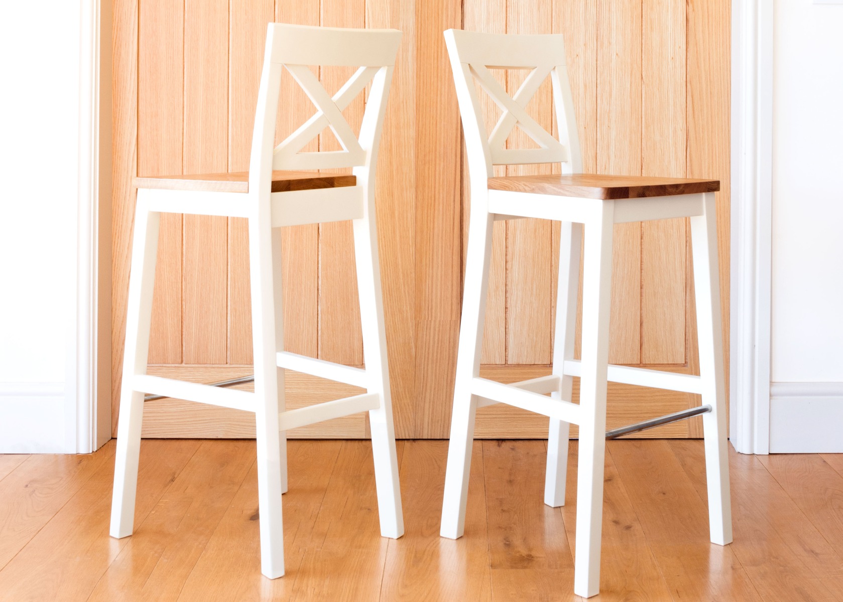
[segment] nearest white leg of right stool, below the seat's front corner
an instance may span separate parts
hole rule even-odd
[[[582,421],[579,425],[577,551],[574,562],[574,593],[584,598],[597,594],[600,589],[614,212],[614,201],[605,200],[597,215],[586,222],[580,380]]]

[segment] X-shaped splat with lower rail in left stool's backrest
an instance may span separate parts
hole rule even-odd
[[[285,65],[299,86],[316,107],[316,113],[281,142],[274,152],[272,164],[277,169],[331,169],[352,168],[366,162],[366,151],[352,131],[343,109],[357,98],[363,88],[383,67],[360,67],[352,77],[330,96],[322,83],[306,65]],[[330,127],[341,151],[302,152],[302,149],[319,136],[325,127]]]

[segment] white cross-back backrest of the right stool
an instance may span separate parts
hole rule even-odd
[[[482,182],[485,188],[486,178],[493,175],[494,165],[561,162],[564,173],[583,171],[566,70],[565,43],[561,34],[481,34],[448,29],[445,32],[445,43],[454,71],[472,181],[478,184]],[[518,92],[510,96],[489,69],[531,71],[524,78]],[[558,140],[530,117],[525,109],[548,76],[553,84]],[[502,110],[491,135],[486,134],[475,81]],[[507,148],[507,137],[516,125],[539,148]]]

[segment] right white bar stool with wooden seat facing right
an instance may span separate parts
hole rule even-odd
[[[468,150],[471,216],[441,535],[454,539],[463,535],[476,408],[503,402],[550,418],[545,503],[552,507],[565,503],[568,425],[579,425],[575,594],[589,597],[599,592],[607,437],[701,413],[711,541],[728,544],[732,541],[732,516],[714,203],[719,183],[582,174],[561,35],[489,35],[448,29],[445,40]],[[532,71],[510,97],[489,68]],[[553,84],[558,141],[524,110],[548,76]],[[502,109],[491,136],[486,135],[475,81]],[[540,148],[505,148],[515,125]],[[547,162],[561,162],[564,175],[491,177],[493,165]],[[491,232],[494,221],[523,217],[562,222],[553,370],[550,376],[503,385],[480,377]],[[608,365],[613,226],[674,217],[690,217],[691,222],[701,376]],[[583,357],[574,360],[580,224],[588,234],[583,268]],[[573,376],[581,378],[578,405],[572,403]],[[607,434],[607,380],[701,393],[704,405]],[[545,397],[547,393],[552,397]]]

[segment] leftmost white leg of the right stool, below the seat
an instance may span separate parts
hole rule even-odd
[[[476,193],[473,193],[476,194]],[[445,493],[439,535],[457,539],[465,526],[465,502],[469,489],[471,445],[474,441],[477,397],[471,394],[471,381],[480,376],[483,326],[486,317],[486,289],[489,284],[491,232],[494,218],[475,203],[471,209],[469,241],[465,259],[463,314],[459,326],[459,349],[454,381],[454,408]]]

